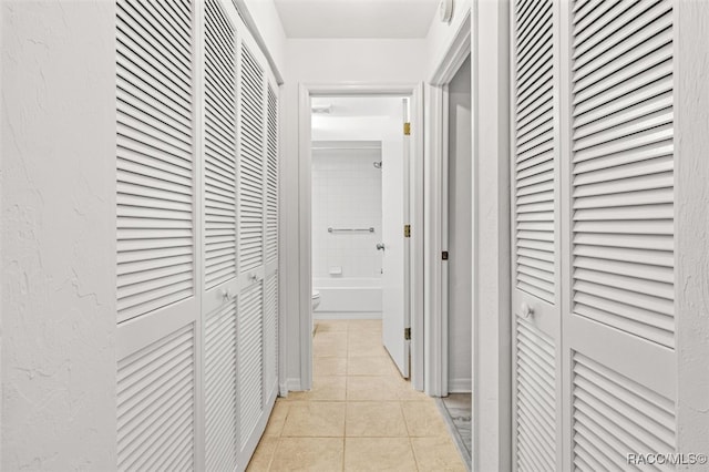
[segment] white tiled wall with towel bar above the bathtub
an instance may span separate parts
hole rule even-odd
[[[381,171],[372,165],[382,160],[381,146],[351,148],[358,143],[332,148],[338,143],[326,142],[326,148],[312,150],[314,278],[381,278],[376,247],[381,240]],[[329,227],[374,232],[329,233]]]

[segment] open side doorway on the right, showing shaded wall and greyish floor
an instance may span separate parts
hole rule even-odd
[[[472,93],[470,55],[444,88],[443,307],[448,320],[448,371],[442,393],[462,456],[472,449]]]

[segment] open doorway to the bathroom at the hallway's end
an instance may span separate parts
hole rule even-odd
[[[314,359],[359,346],[423,390],[422,85],[300,92],[301,389],[318,389]],[[350,326],[370,329],[336,334]]]

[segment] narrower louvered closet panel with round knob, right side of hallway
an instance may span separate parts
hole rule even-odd
[[[561,470],[558,10],[512,8],[513,464]]]

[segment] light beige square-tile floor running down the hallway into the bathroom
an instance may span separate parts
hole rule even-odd
[[[433,399],[381,345],[381,321],[318,321],[314,386],[279,398],[248,471],[465,471]]]

